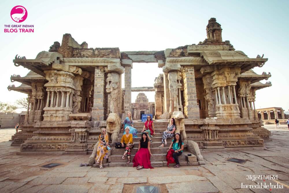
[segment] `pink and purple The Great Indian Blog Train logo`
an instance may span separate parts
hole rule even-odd
[[[21,23],[27,19],[27,9],[22,5],[16,5],[10,11],[11,19],[16,23]],[[28,21],[28,20],[27,20]],[[4,33],[33,33],[34,25],[25,24],[4,24]]]

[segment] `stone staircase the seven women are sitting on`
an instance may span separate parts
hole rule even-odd
[[[159,148],[162,144],[162,132],[166,129],[168,125],[167,121],[154,121],[154,126],[155,126],[155,135],[151,138],[153,142],[151,143],[151,153],[153,154],[151,156],[151,166],[152,167],[161,167],[161,166],[167,166],[167,161],[166,161],[166,152],[168,150],[169,145],[171,144],[171,140],[167,139],[168,145],[166,145],[163,148]],[[134,148],[131,151],[131,163],[127,164],[127,157],[125,159],[121,159],[122,155],[124,153],[124,149],[115,149],[114,147],[110,150],[110,156],[108,157],[108,166],[109,167],[115,167],[115,166],[133,166],[132,160],[134,158],[134,155],[136,154],[138,150],[138,142],[141,139],[141,131],[143,129],[144,122],[136,122],[134,121],[134,128],[138,130],[138,138],[134,138]],[[123,136],[123,130],[121,131],[120,134],[118,134],[118,142],[121,141],[121,137]],[[184,151],[181,156],[179,156],[179,162],[181,166],[186,166],[188,165],[185,156],[190,153],[187,152],[186,144]],[[191,160],[189,162],[189,165],[199,165],[197,161],[197,157],[192,154]],[[169,166],[174,166],[175,163],[170,164]]]

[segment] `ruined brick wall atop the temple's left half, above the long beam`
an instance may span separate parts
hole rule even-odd
[[[120,58],[119,48],[74,48],[73,58]]]

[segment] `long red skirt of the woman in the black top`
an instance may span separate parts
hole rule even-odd
[[[140,148],[132,162],[134,163],[134,167],[142,166],[143,168],[153,168],[151,167],[151,155],[149,154],[148,148]]]

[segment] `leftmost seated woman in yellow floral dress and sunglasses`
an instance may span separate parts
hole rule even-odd
[[[108,149],[110,147],[108,144],[108,135],[106,135],[105,128],[101,129],[101,134],[99,135],[99,143],[97,146],[97,154],[95,157],[96,164],[99,164],[99,168],[102,169],[102,160],[103,158],[108,158]]]

